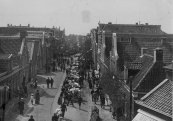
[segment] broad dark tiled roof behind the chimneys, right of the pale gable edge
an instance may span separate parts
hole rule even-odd
[[[153,50],[157,47],[163,48],[163,62],[168,65],[172,62],[173,58],[173,38],[168,38],[164,43],[161,42],[161,38],[147,38],[135,37],[131,39],[131,42],[121,42],[117,40],[117,52],[122,64],[124,62],[133,62],[136,57],[141,55],[141,48],[147,48],[147,54],[153,55]]]

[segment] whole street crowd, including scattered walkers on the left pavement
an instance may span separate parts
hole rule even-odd
[[[63,85],[61,87],[61,92],[59,98],[57,100],[57,104],[60,105],[60,108],[57,108],[52,116],[52,121],[59,121],[65,117],[65,112],[68,111],[68,106],[74,106],[74,103],[78,104],[78,108],[81,108],[83,97],[82,97],[82,88],[84,86],[84,81],[88,83],[89,90],[92,95],[92,101],[96,104],[100,101],[101,108],[104,108],[105,101],[108,102],[106,95],[102,92],[102,88],[99,86],[99,74],[92,69],[92,63],[90,60],[73,60],[73,58],[69,57],[61,62],[56,61],[54,66],[51,66],[49,71],[57,71],[60,69],[63,73],[66,73],[65,80],[63,81]],[[52,77],[48,77],[46,79],[45,84],[46,88],[52,88],[54,81]],[[34,106],[40,103],[40,92],[37,89],[37,78],[30,82],[30,87],[36,89],[35,94],[31,93],[31,95],[27,94],[27,89],[24,87],[20,88],[20,94],[23,94],[19,97],[18,109],[19,114],[23,115],[24,110],[24,98],[25,96],[30,96],[30,103]],[[22,93],[25,92],[25,93]],[[108,104],[108,103],[107,103]],[[97,108],[97,107],[95,107]],[[96,110],[96,109],[95,109]],[[98,109],[97,109],[98,111]],[[98,115],[99,118],[99,115]],[[30,115],[30,119],[28,121],[35,121],[32,115]]]

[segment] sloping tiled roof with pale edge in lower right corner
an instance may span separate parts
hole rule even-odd
[[[172,85],[172,81],[165,79],[137,103],[158,113],[172,117]]]

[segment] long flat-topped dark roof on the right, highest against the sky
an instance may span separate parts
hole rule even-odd
[[[163,34],[161,25],[136,25],[136,24],[103,24],[99,23],[101,30],[112,31],[116,33],[147,33]]]

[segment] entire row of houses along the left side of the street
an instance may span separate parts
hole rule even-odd
[[[39,70],[50,65],[55,47],[65,35],[57,28],[28,26],[0,27],[0,105],[17,97],[21,85],[27,85]],[[2,108],[1,108],[2,109]]]

